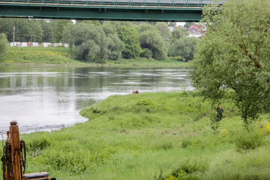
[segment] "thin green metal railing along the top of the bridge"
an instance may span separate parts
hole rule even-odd
[[[72,5],[74,4],[85,4],[87,6],[91,5],[100,5],[101,7],[106,7],[107,5],[111,5],[110,7],[134,7],[134,6],[140,6],[144,8],[149,8],[151,6],[159,7],[159,8],[179,8],[179,7],[200,7],[202,8],[204,5],[212,4],[212,3],[218,3],[221,5],[226,0],[0,0],[0,1],[8,1],[13,2],[13,4],[18,4],[20,2],[27,3],[28,5],[38,5],[40,6],[40,3],[54,3],[58,6],[62,6],[64,4]],[[3,3],[2,3],[3,4]],[[10,5],[10,4],[8,4]]]

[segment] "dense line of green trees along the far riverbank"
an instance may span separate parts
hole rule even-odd
[[[34,42],[68,43],[76,59],[99,63],[137,57],[164,60],[168,56],[189,61],[196,44],[185,37],[189,34],[186,28],[165,22],[77,20],[73,24],[71,20],[0,19],[0,33],[10,42],[14,26],[16,42],[28,42],[32,35]]]

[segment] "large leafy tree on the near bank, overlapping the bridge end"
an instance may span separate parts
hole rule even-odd
[[[221,10],[208,6],[202,20],[207,34],[190,72],[193,86],[213,102],[232,89],[245,125],[270,111],[269,7],[264,0],[231,0]]]

